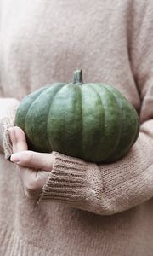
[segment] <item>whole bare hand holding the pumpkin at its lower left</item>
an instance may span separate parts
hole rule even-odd
[[[28,198],[36,199],[48,179],[54,164],[54,155],[29,151],[26,135],[18,126],[8,129],[13,153],[10,160],[17,165],[17,172]]]

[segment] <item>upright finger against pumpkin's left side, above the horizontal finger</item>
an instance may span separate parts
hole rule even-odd
[[[8,131],[14,153],[28,149],[25,132],[20,127],[14,126],[9,128]]]

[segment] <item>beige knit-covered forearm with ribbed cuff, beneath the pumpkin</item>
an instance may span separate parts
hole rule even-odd
[[[129,154],[111,165],[54,153],[54,168],[40,201],[64,201],[82,210],[111,215],[149,200],[153,196],[153,121],[148,122]]]

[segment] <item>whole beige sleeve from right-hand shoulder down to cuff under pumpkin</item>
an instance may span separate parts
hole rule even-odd
[[[111,215],[153,196],[153,2],[144,2],[141,10],[138,3],[133,17],[128,38],[129,60],[141,98],[137,142],[122,160],[110,165],[54,152],[54,168],[39,201],[63,201],[82,210]]]

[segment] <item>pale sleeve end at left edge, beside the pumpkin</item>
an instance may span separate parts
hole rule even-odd
[[[0,152],[9,159],[12,146],[8,136],[8,128],[14,126],[16,109],[19,101],[14,98],[0,98]]]

